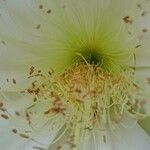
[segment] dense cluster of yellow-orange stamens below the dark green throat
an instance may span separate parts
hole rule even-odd
[[[124,113],[135,118],[144,116],[132,69],[111,74],[99,66],[86,64],[68,69],[62,75],[53,71],[32,73],[30,77],[35,81],[27,93],[34,97],[34,107],[40,105],[41,98],[47,100],[42,113],[48,117],[63,116],[68,127],[92,129],[111,125],[119,123]],[[36,80],[38,77],[42,79]],[[32,109],[29,111],[32,115]]]

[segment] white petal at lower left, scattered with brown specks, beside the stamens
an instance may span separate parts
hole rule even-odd
[[[61,116],[44,116],[44,108],[33,107],[30,96],[13,92],[1,93],[0,101],[0,145],[4,150],[47,148],[53,142],[58,131],[64,126]],[[46,106],[48,107],[48,106]],[[30,112],[27,110],[30,108]],[[30,147],[30,148],[29,148]]]

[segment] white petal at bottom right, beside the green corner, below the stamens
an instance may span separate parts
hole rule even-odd
[[[79,150],[143,150],[149,149],[150,138],[136,120],[124,116],[122,122],[112,129],[84,130],[78,145]]]

